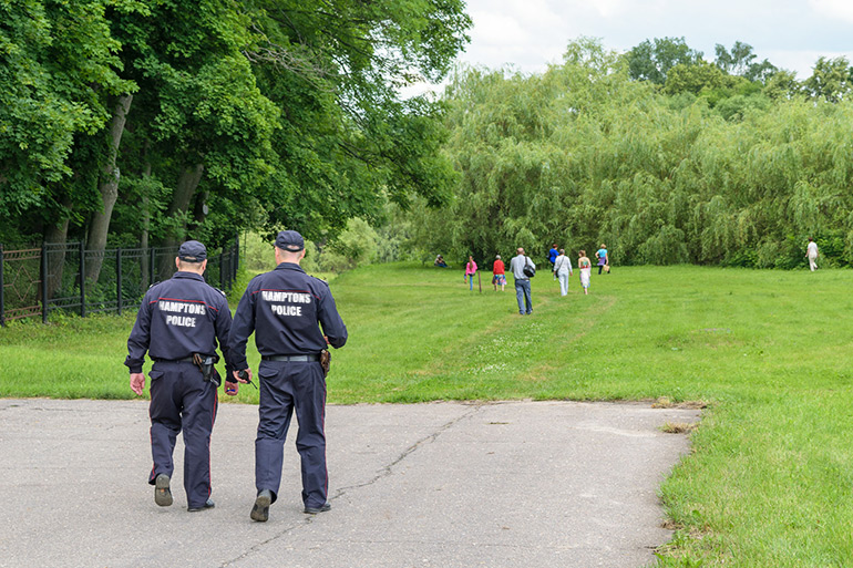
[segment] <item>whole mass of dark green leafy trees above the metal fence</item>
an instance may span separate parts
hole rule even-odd
[[[0,2],[0,242],[315,240],[441,204],[461,0]],[[86,275],[97,279],[100,262]]]

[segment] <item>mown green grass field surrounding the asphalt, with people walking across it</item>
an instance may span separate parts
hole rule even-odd
[[[588,297],[574,277],[566,298],[539,272],[531,317],[483,276],[482,295],[461,270],[414,265],[335,279],[350,340],[329,401],[707,404],[695,452],[661,487],[678,529],[661,565],[853,565],[853,272],[617,267]],[[0,395],[133,397],[132,324],[0,330]]]

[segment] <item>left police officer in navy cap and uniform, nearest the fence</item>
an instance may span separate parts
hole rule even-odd
[[[181,245],[175,266],[177,272],[169,280],[152,286],[145,293],[127,340],[124,364],[131,371],[131,389],[141,395],[145,388],[145,352],[154,360],[148,372],[154,457],[148,483],[154,485],[154,502],[162,507],[172,505],[172,452],[183,430],[187,510],[198,512],[214,507],[209,498],[209,446],[219,383],[212,363],[217,360],[217,340],[227,361],[232,313],[225,295],[204,281],[204,245],[197,240]],[[194,362],[194,354],[209,363],[202,365],[204,372]]]

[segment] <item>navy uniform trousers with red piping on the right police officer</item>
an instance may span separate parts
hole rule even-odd
[[[326,469],[326,379],[316,361],[261,361],[258,436],[255,440],[255,484],[258,492],[281,485],[285,438],[296,411],[296,450],[302,468],[302,502],[321,507],[329,490]]]

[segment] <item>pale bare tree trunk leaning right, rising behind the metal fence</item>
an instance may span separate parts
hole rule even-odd
[[[86,262],[86,280],[90,282],[97,282],[97,278],[101,275],[101,266],[104,261],[103,252],[104,248],[106,248],[106,237],[110,233],[110,218],[113,216],[113,207],[115,206],[115,200],[119,198],[119,178],[121,177],[121,173],[115,165],[115,157],[119,154],[119,146],[122,143],[124,123],[127,120],[127,112],[131,110],[132,101],[132,94],[125,94],[119,97],[119,102],[115,105],[113,122],[110,125],[110,148],[102,172],[101,185],[99,186],[104,208],[101,211],[96,211],[92,217],[92,224],[89,227],[89,240],[86,242],[89,250],[100,252],[99,255],[94,255],[91,260]]]

